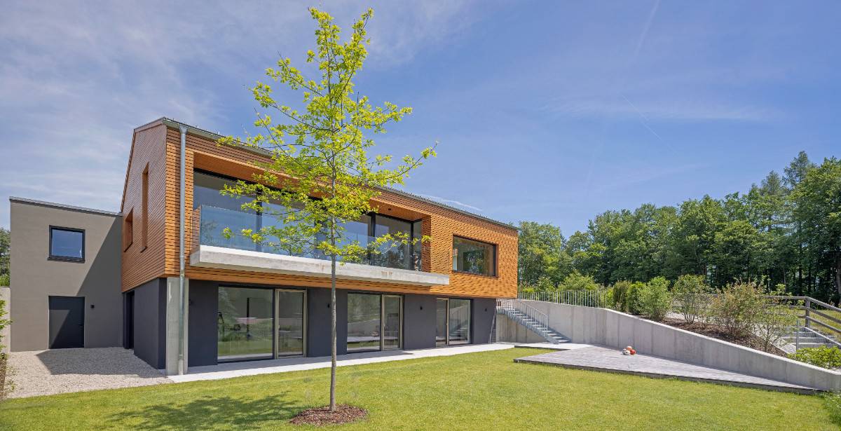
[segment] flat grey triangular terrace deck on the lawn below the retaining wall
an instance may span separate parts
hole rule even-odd
[[[771,391],[788,391],[812,394],[820,390],[807,386],[791,385],[778,380],[719,370],[703,365],[689,364],[674,359],[648,354],[623,355],[621,350],[601,346],[555,351],[514,359],[524,364],[547,364],[577,370],[594,370],[654,378],[703,381],[732,386],[753,387]]]

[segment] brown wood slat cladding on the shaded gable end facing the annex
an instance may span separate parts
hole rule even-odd
[[[122,290],[130,290],[150,279],[160,277],[165,272],[164,257],[169,242],[172,240],[167,230],[167,166],[164,154],[164,138],[167,127],[162,124],[135,130],[131,144],[129,167],[123,193],[123,214],[132,212],[131,228],[135,239],[123,252]],[[143,171],[149,167],[149,214],[146,248],[143,249],[141,214],[143,210]],[[177,208],[177,205],[176,205]]]

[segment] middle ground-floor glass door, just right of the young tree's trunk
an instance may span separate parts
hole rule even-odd
[[[347,352],[399,349],[402,297],[347,294]]]

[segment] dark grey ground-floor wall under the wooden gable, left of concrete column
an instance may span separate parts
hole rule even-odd
[[[135,293],[132,325],[135,355],[163,369],[167,352],[167,279],[147,281],[132,291]]]

